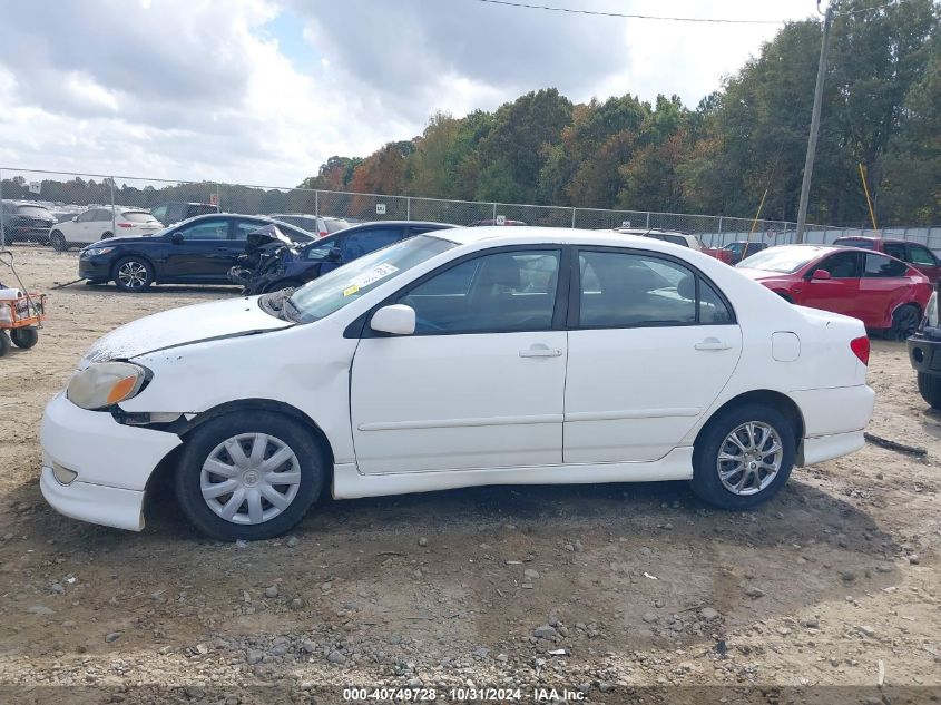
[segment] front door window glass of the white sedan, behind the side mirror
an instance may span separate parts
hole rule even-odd
[[[509,333],[552,326],[559,249],[499,252],[435,274],[398,300],[415,333]]]

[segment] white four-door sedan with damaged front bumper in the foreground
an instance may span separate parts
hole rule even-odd
[[[326,488],[689,480],[744,509],[860,449],[872,413],[862,323],[650,238],[441,231],[292,291],[99,340],[46,408],[46,499],[140,530],[168,473],[226,540],[288,530]]]

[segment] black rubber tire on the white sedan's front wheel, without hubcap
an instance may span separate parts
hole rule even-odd
[[[245,522],[249,512],[248,492],[252,492],[256,487],[261,490],[262,488],[259,486],[263,484],[258,482],[258,476],[248,478],[252,468],[237,471],[239,472],[238,478],[234,480],[224,479],[228,476],[214,477],[213,473],[207,473],[206,478],[203,477],[204,464],[216,456],[216,453],[224,453],[223,457],[228,457],[233,462],[223,462],[223,464],[231,464],[234,468],[234,458],[232,456],[225,456],[228,451],[223,448],[223,444],[239,435],[248,437],[251,434],[265,434],[268,437],[265,441],[265,452],[277,448],[277,444],[286,447],[294,454],[294,458],[287,462],[292,463],[292,468],[296,468],[296,470],[288,469],[288,471],[300,472],[300,482],[297,483],[296,491],[291,496],[286,507],[278,509],[268,502],[267,499],[259,500],[262,511],[269,512],[278,510],[280,513],[257,523]],[[249,440],[245,439],[237,442],[239,444],[243,442],[248,443]],[[245,445],[242,445],[242,452],[248,456],[251,448],[254,448],[254,445],[247,449]],[[268,458],[277,452],[282,451],[274,451]],[[282,466],[275,469],[284,467],[286,467],[286,463],[282,463]],[[269,477],[269,473],[265,473],[262,470],[259,477]],[[207,421],[186,438],[186,445],[184,447],[183,456],[177,467],[175,486],[177,500],[184,515],[186,515],[186,518],[200,532],[220,541],[234,541],[237,539],[257,541],[280,536],[296,526],[304,518],[311,505],[320,497],[325,477],[325,456],[308,428],[278,413],[246,411],[228,413]],[[203,497],[202,483],[204,479],[207,482],[207,487],[228,481],[236,481],[238,483],[238,487],[232,493],[212,498],[217,510],[225,511],[225,507],[236,501],[235,491],[238,491],[241,488],[245,499],[238,498],[238,506],[235,507],[236,520],[224,519],[220,513],[217,513],[216,510],[210,508],[210,500]],[[217,482],[210,482],[210,480],[217,480]],[[255,484],[249,486],[253,481]],[[275,487],[286,487],[288,495],[293,491],[287,486],[277,484]],[[267,508],[264,508],[265,503],[268,505]],[[243,507],[245,511],[242,511]]]

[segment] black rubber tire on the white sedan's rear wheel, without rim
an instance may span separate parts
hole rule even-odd
[[[728,437],[736,429],[751,422],[761,423],[774,430],[777,439],[774,439],[772,435],[771,440],[772,443],[775,443],[777,440],[781,441],[781,458],[777,472],[773,477],[765,476],[765,478],[761,478],[761,470],[757,471],[757,477],[761,478],[762,483],[767,477],[771,477],[766,486],[755,488],[755,476],[751,474],[743,487],[743,493],[736,493],[732,489],[726,488],[719,478],[719,452],[728,452],[729,449],[734,451],[735,445],[732,441],[727,441]],[[719,412],[709,420],[696,440],[693,450],[693,480],[690,481],[693,491],[705,501],[721,509],[748,509],[771,499],[784,487],[784,483],[787,482],[787,478],[791,476],[791,470],[794,468],[796,450],[795,433],[796,431],[791,419],[765,404],[743,403]],[[742,437],[737,438],[741,439]],[[765,435],[764,438],[767,439],[768,437]],[[758,445],[771,448],[771,445],[765,445],[764,440]],[[736,463],[731,463],[725,467],[731,469],[735,466]],[[745,476],[749,472],[752,471],[743,470],[741,476],[737,473],[733,474],[728,480],[733,483],[739,477],[744,480]],[[757,489],[757,491],[754,493],[744,493],[752,489]]]

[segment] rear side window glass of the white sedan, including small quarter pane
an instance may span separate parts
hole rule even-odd
[[[732,311],[708,282],[670,260],[630,253],[582,252],[579,271],[578,321],[581,327],[734,321]]]

